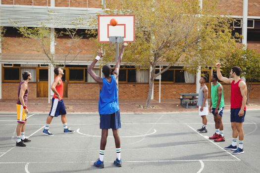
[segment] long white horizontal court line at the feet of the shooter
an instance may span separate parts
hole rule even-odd
[[[235,160],[235,159],[220,159],[220,160],[217,160],[217,159],[209,159],[209,160],[136,160],[136,161],[124,161],[124,162],[129,162],[129,163],[135,163],[135,162],[146,162],[146,163],[150,163],[150,162],[227,162],[227,161],[238,161],[238,160]],[[0,164],[70,164],[70,163],[93,163],[93,162],[96,162],[96,161],[81,161],[81,162],[0,162]],[[112,160],[111,161],[104,161],[105,163],[108,162],[113,162]]]

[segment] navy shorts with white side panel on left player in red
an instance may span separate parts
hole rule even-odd
[[[52,108],[50,116],[57,117],[59,115],[67,114],[63,100],[58,101],[58,98],[52,98]]]

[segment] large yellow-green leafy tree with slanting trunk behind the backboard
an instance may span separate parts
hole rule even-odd
[[[225,61],[240,49],[232,37],[232,19],[218,15],[217,0],[111,0],[109,14],[135,14],[136,41],[125,51],[124,61],[151,68],[146,107],[150,106],[152,88],[157,76],[176,63],[189,71]],[[237,35],[238,36],[238,35]],[[107,51],[113,46],[103,44]],[[111,53],[112,54],[112,53]],[[107,56],[106,56],[107,57]],[[105,58],[106,58],[105,57]],[[104,59],[105,59],[104,58]],[[159,62],[168,66],[156,73]]]

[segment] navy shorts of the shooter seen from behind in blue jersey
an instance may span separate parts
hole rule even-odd
[[[113,114],[100,114],[100,129],[120,129],[120,111]]]

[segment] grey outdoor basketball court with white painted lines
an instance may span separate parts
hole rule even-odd
[[[208,133],[198,133],[201,118],[196,112],[169,114],[122,114],[121,158],[116,158],[112,131],[104,154],[104,169],[93,163],[99,158],[101,130],[98,114],[68,114],[68,126],[76,130],[63,134],[60,118],[54,118],[50,131],[42,131],[47,114],[29,114],[26,136],[32,142],[16,147],[16,115],[0,114],[0,170],[2,173],[259,173],[260,111],[247,111],[245,154],[232,155],[223,148],[231,142],[229,110],[224,111],[225,142],[208,139],[214,132],[213,116],[208,116]]]

